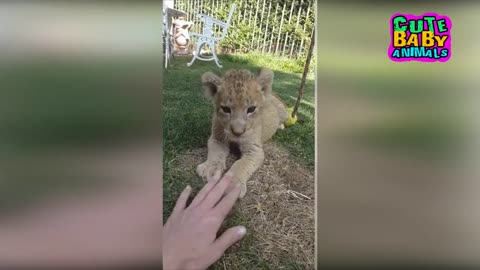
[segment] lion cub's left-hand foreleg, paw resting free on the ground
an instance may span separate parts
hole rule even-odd
[[[197,166],[197,174],[205,181],[218,181],[225,170],[230,149],[213,136],[208,139],[207,161]]]

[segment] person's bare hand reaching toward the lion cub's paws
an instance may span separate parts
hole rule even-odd
[[[188,207],[190,186],[180,194],[163,228],[164,269],[206,269],[245,235],[245,227],[236,226],[217,238],[220,226],[240,195],[239,187],[227,191],[231,181],[228,173],[218,183],[209,181]]]

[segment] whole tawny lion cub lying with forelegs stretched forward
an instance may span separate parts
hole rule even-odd
[[[206,181],[221,176],[230,146],[238,146],[241,157],[229,170],[241,184],[240,197],[247,192],[247,180],[262,165],[263,143],[288,119],[285,105],[272,93],[273,72],[263,68],[258,75],[248,70],[229,70],[223,77],[211,72],[202,76],[205,96],[215,111],[208,139],[207,161],[197,173]]]

